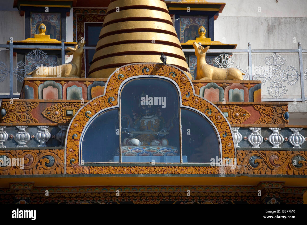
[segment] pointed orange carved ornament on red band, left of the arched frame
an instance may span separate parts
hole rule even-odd
[[[56,103],[45,108],[41,114],[52,122],[67,123],[72,119],[80,107],[81,103],[78,102]]]

